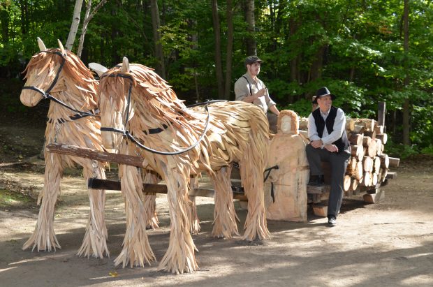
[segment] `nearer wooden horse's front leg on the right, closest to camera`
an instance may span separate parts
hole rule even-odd
[[[167,200],[170,210],[170,242],[159,263],[159,270],[172,273],[193,272],[198,265],[194,256],[196,246],[189,232],[191,209],[188,203],[189,168],[181,163],[163,166],[167,183]]]

